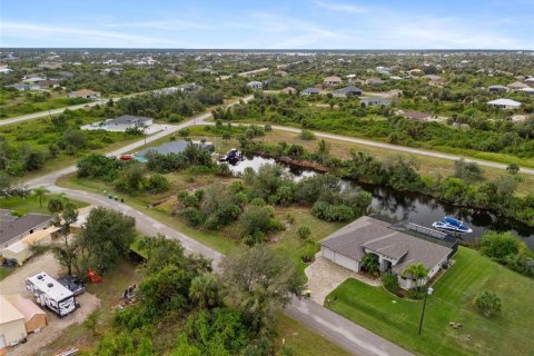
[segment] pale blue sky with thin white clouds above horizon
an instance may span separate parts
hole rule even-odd
[[[0,0],[0,47],[534,50],[534,0]]]

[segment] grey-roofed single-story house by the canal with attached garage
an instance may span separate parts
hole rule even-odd
[[[415,280],[403,276],[412,264],[428,269],[427,279],[434,277],[448,263],[453,249],[392,228],[392,225],[363,216],[320,241],[320,255],[326,259],[360,271],[365,254],[378,257],[380,273],[397,276],[403,289],[415,287]]]

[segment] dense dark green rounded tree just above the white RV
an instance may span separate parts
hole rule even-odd
[[[105,273],[128,253],[135,236],[132,217],[103,207],[92,209],[77,236],[82,267]]]

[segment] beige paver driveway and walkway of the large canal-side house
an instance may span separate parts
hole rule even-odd
[[[364,277],[322,256],[317,256],[315,261],[304,273],[308,277],[308,289],[312,291],[312,300],[319,305],[324,305],[326,296],[347,278],[358,279],[372,286],[380,285],[379,280]]]

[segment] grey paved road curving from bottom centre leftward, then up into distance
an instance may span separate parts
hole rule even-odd
[[[245,98],[245,101],[250,100],[251,97]],[[210,113],[200,115],[194,119],[190,119],[181,125],[168,127],[167,130],[160,131],[151,137],[147,138],[147,142],[151,142],[161,137],[170,135],[185,127],[204,122]],[[212,122],[210,122],[212,123]],[[145,145],[145,139],[125,146],[118,150],[107,154],[107,156],[118,156],[128,151],[131,151],[138,147]],[[147,235],[155,236],[162,234],[168,238],[180,240],[187,251],[194,254],[200,254],[214,261],[214,269],[218,270],[218,264],[224,257],[220,253],[212,248],[205,246],[194,238],[177,231],[176,229],[147,216],[146,214],[119,201],[115,201],[106,198],[102,195],[61,188],[56,186],[56,180],[67,174],[75,172],[76,166],[70,166],[58,170],[56,172],[34,178],[26,184],[30,188],[43,186],[52,192],[62,192],[68,197],[95,206],[102,206],[118,211],[122,211],[128,216],[136,219],[136,228]],[[310,329],[315,330],[323,337],[329,339],[334,344],[343,347],[347,352],[359,356],[411,356],[412,354],[400,348],[399,346],[384,339],[383,337],[373,334],[366,328],[356,325],[355,323],[324,308],[323,306],[307,299],[294,298],[291,303],[286,307],[286,314],[291,318],[299,320]]]

